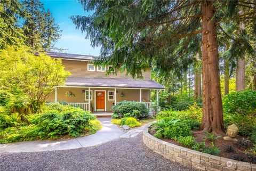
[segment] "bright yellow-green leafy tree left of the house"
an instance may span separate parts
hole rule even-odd
[[[61,60],[51,59],[44,53],[35,56],[29,51],[26,46],[8,46],[0,52],[0,86],[12,94],[27,96],[31,111],[37,112],[55,86],[65,83],[70,72],[65,71]],[[29,104],[18,107],[26,108]]]

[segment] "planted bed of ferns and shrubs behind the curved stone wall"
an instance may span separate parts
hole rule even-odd
[[[240,96],[243,96],[244,104],[239,101]],[[256,164],[255,102],[251,99],[254,96],[252,91],[237,92],[230,93],[223,100],[225,128],[237,125],[237,141],[224,140],[224,133],[215,135],[200,130],[202,109],[196,105],[185,111],[159,112],[157,123],[151,125],[149,133],[157,139],[189,149]]]

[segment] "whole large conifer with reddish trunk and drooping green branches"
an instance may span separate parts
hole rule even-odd
[[[90,1],[80,0],[93,14],[73,16],[76,27],[86,31],[92,46],[101,45],[101,58],[95,63],[112,64],[109,72],[127,69],[141,77],[143,69],[155,67],[168,75],[184,66],[191,56],[184,55],[202,36],[203,122],[204,131],[222,133],[223,115],[219,77],[218,32],[223,25],[246,20],[254,22],[255,1]],[[238,11],[243,10],[242,15]],[[217,30],[218,29],[218,30]],[[230,39],[226,34],[225,37]],[[235,41],[241,55],[245,39]],[[233,46],[235,48],[235,46]],[[231,47],[232,48],[232,47]],[[233,49],[234,50],[234,49]],[[198,52],[198,51],[197,51]]]

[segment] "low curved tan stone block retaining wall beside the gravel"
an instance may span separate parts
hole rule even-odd
[[[214,156],[159,140],[148,133],[148,127],[143,131],[142,139],[143,143],[154,152],[194,170],[256,171],[256,165],[249,162]]]

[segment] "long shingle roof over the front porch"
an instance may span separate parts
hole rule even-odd
[[[88,87],[123,87],[123,88],[152,88],[164,89],[161,84],[148,79],[119,79],[95,77],[68,77],[66,86]]]

